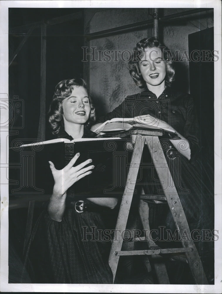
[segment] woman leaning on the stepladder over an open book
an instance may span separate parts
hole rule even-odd
[[[139,41],[129,61],[129,72],[137,86],[145,90],[128,96],[97,122],[101,124],[113,118],[132,118],[144,126],[175,131],[180,139],[162,141],[162,147],[190,230],[200,230],[198,232],[203,239],[201,230],[210,230],[210,236],[213,230],[213,169],[207,157],[201,162],[203,152],[200,152],[199,124],[193,99],[189,94],[175,91],[171,87],[175,78],[171,56],[170,51],[157,38]],[[100,130],[100,124],[93,126],[92,130]],[[175,164],[178,154],[182,156],[179,155],[179,163]],[[148,159],[147,163],[149,162]],[[156,180],[158,176],[148,170],[150,169],[147,168],[143,180],[143,183],[147,183],[144,191],[146,194],[158,194],[162,190]],[[175,230],[170,212],[167,213],[165,225]],[[198,242],[197,247],[201,258],[204,258],[205,270],[213,272],[213,242],[210,238],[208,242]]]

